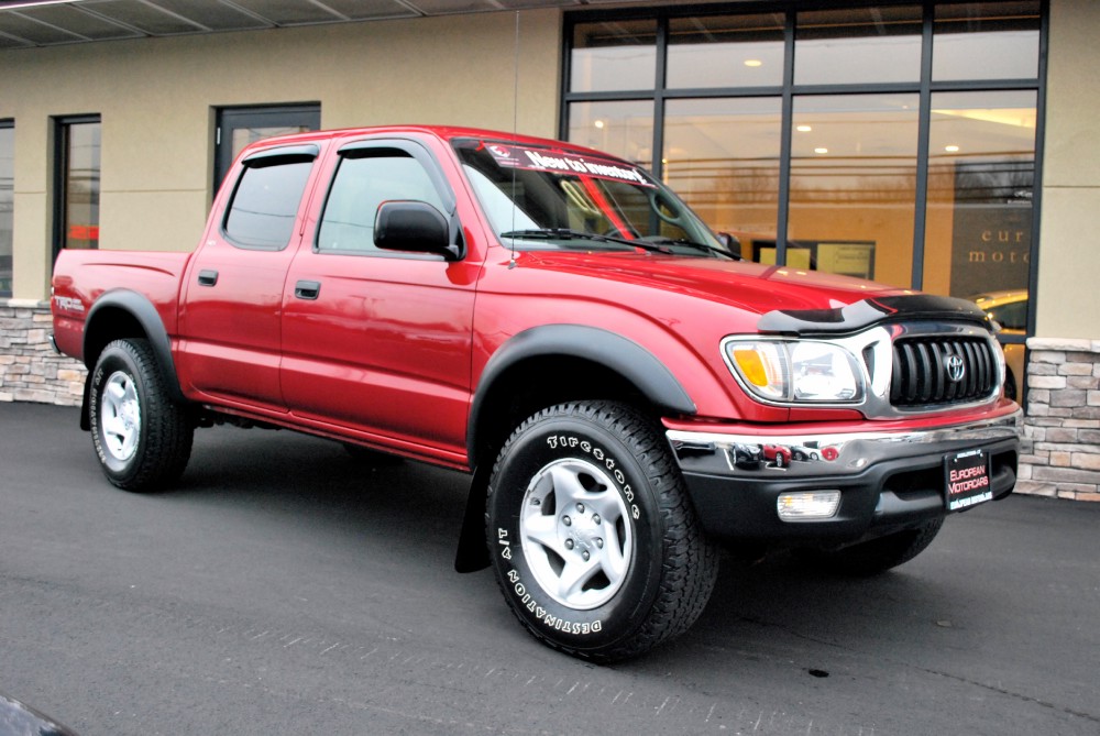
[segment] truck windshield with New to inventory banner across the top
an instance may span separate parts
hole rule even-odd
[[[459,139],[453,145],[507,248],[733,257],[686,205],[636,166],[526,144]]]

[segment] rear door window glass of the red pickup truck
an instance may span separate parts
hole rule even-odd
[[[226,237],[242,248],[286,248],[312,165],[312,158],[300,157],[245,164],[226,215]]]

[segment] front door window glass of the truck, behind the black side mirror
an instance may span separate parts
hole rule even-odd
[[[344,156],[321,216],[317,250],[329,253],[375,250],[374,218],[378,205],[399,199],[424,201],[446,210],[428,172],[404,151],[372,149]]]

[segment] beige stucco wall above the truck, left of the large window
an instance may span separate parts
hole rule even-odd
[[[515,13],[0,53],[0,118],[15,120],[14,297],[48,290],[52,117],[102,117],[101,248],[190,250],[211,197],[215,107],[320,102],[324,128],[553,135],[560,11],[518,21],[518,55]]]

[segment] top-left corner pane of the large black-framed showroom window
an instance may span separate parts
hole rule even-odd
[[[653,89],[656,81],[656,21],[580,23],[573,30],[570,91]]]

